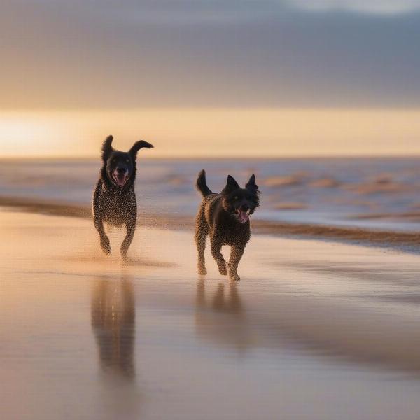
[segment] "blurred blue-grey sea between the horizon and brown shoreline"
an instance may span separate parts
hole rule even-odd
[[[90,204],[99,160],[3,160],[0,195]],[[227,174],[242,185],[255,172],[262,206],[255,218],[420,230],[420,163],[410,158],[283,160],[150,160],[139,156],[139,208],[193,216],[194,184],[207,169],[220,191]]]

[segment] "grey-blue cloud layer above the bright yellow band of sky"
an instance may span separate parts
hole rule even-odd
[[[395,4],[6,0],[0,108],[420,106],[420,13]]]

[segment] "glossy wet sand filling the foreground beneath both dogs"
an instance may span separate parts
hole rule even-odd
[[[419,419],[419,255],[254,235],[232,283],[188,230],[127,263],[80,217],[0,237],[1,419]]]

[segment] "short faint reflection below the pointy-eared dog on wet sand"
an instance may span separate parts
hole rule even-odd
[[[243,352],[252,345],[251,328],[235,281],[230,281],[229,286],[218,283],[216,290],[207,286],[204,279],[197,281],[195,330],[200,338],[215,346]]]

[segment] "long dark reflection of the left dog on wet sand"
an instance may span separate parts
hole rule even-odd
[[[92,330],[104,371],[134,377],[134,288],[129,279],[97,279],[92,291]]]

